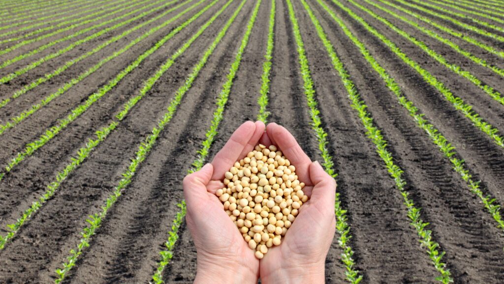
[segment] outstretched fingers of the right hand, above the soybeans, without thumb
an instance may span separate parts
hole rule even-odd
[[[270,140],[280,148],[287,159],[296,167],[299,180],[306,185],[311,185],[308,169],[311,164],[310,158],[301,149],[296,138],[285,127],[276,123],[270,123],[266,127]]]

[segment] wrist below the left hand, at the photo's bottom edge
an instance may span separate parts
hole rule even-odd
[[[257,284],[258,273],[252,267],[221,261],[200,261],[196,270],[195,284]]]

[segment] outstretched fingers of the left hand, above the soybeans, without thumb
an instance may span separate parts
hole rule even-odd
[[[248,145],[249,140],[255,134],[255,130],[256,124],[247,121],[233,132],[226,145],[215,155],[212,161],[212,165],[214,166],[212,179],[219,180],[224,178],[224,173],[236,162],[241,152]]]

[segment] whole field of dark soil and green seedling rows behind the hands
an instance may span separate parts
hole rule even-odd
[[[0,283],[192,283],[246,120],[338,183],[327,283],[504,283],[504,1],[0,0]]]

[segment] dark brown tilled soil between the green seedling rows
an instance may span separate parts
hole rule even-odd
[[[311,129],[303,78],[299,71],[297,46],[285,1],[276,2],[273,68],[267,107],[271,115],[268,120],[287,127],[296,136],[308,156],[312,160],[320,161],[322,158],[317,137]],[[319,103],[323,127],[328,133],[328,149],[338,172],[341,205],[348,210],[352,235],[350,246],[354,251],[356,269],[363,275],[362,282],[436,282],[438,272],[425,248],[420,247],[417,232],[407,217],[403,197],[387,172],[384,162],[376,153],[375,146],[367,137],[356,111],[352,109],[346,89],[338,72],[333,68],[308,14],[299,1],[292,2],[316,88],[316,100]],[[446,252],[443,260],[447,263],[455,283],[504,282],[502,229],[496,227],[495,221],[484,209],[480,200],[454,172],[450,161],[439,152],[425,132],[417,127],[409,113],[397,103],[395,95],[390,92],[379,74],[369,66],[337,23],[316,0],[307,2],[328,34],[362,100],[368,106],[367,110],[375,125],[382,130],[384,138],[388,141],[388,150],[392,153],[394,162],[404,170],[406,190],[415,206],[422,208],[422,219],[430,223],[428,229],[432,231],[433,239],[439,243],[439,250]],[[35,114],[1,134],[2,169],[27,143],[37,139],[46,128],[55,125],[59,119],[66,117],[90,94],[114,78],[155,42],[208,3],[203,3],[163,30],[136,44],[128,52],[107,63]],[[233,2],[176,60],[147,96],[67,180],[62,182],[54,197],[22,226],[5,249],[0,250],[1,283],[54,281],[54,271],[65,261],[69,251],[78,244],[81,238],[80,232],[87,225],[86,218],[101,210],[104,201],[114,190],[114,186],[122,177],[121,174],[135,156],[139,143],[156,126],[166,112],[174,92],[184,83],[193,66],[200,60],[239,3],[240,1]],[[210,127],[215,110],[216,98],[227,80],[226,75],[234,61],[255,3],[249,1],[245,4],[225,37],[217,45],[193,86],[182,99],[172,120],[159,136],[155,147],[142,162],[132,183],[108,211],[104,222],[93,236],[90,247],[84,250],[65,282],[148,283],[151,280],[160,259],[159,251],[164,248],[167,231],[179,210],[176,203],[183,198],[182,178],[197,158],[197,151],[205,139],[205,132]],[[457,156],[466,161],[474,179],[481,180],[485,194],[495,197],[497,204],[504,204],[504,192],[502,192],[504,149],[472,125],[463,114],[446,101],[442,94],[345,11],[331,1],[326,3],[345,22],[351,32],[364,42],[371,55],[395,78],[405,96],[425,113],[425,118],[456,147]],[[413,43],[381,22],[375,21],[367,13],[346,1],[343,3],[394,41],[402,51],[442,81],[456,96],[472,105],[485,121],[499,130],[504,130],[504,106],[492,100],[465,78],[437,63]],[[504,92],[504,78],[474,64],[449,46],[424,35],[407,23],[362,1],[359,3],[422,40],[437,53],[445,56],[449,62],[462,66],[497,91]],[[15,222],[46,190],[47,184],[55,179],[55,174],[71,162],[71,157],[86,145],[89,138],[95,137],[95,131],[112,122],[122,105],[139,93],[143,82],[224,4],[225,1],[218,2],[170,39],[47,145],[35,151],[0,180],[2,235],[7,233],[7,224]],[[56,91],[61,85],[101,59],[190,5],[192,3],[110,44],[102,51],[11,102],[0,109],[0,122],[5,123],[13,115],[30,108],[41,98]],[[219,125],[219,134],[210,150],[209,160],[225,144],[234,129],[243,121],[255,120],[257,117],[270,5],[271,1],[264,0],[259,9],[256,25],[251,32],[229,94],[223,120]],[[72,10],[69,9],[69,13],[70,11]],[[153,13],[147,18],[155,17],[163,11]],[[405,15],[397,10],[394,12]],[[427,16],[423,12],[416,10],[415,12]],[[414,20],[412,17],[409,18]],[[84,43],[79,48],[19,76],[9,84],[0,85],[0,99],[10,97],[24,84],[50,73],[65,62],[77,58],[83,52],[93,49],[101,42],[138,25],[143,20],[145,19],[137,20]],[[463,31],[449,22],[438,21]],[[463,22],[471,24],[467,20]],[[107,26],[111,25],[113,24]],[[427,27],[426,24],[422,26]],[[81,28],[84,26],[79,27]],[[481,28],[488,30],[485,27]],[[0,56],[0,60],[13,58],[73,32],[75,30],[34,42],[17,52]],[[488,55],[476,46],[442,31],[436,30],[436,32],[489,63],[500,68],[504,67],[500,58]],[[0,75],[5,76],[14,72],[89,34],[92,32],[4,68],[0,70]],[[470,32],[468,34],[495,46],[497,50],[504,47],[492,39]],[[164,270],[163,279],[167,283],[190,283],[196,275],[196,248],[185,223],[180,227],[178,234],[180,238],[173,250],[173,258]],[[341,262],[341,253],[342,250],[335,238],[326,259],[327,283],[346,282],[346,268]]]

